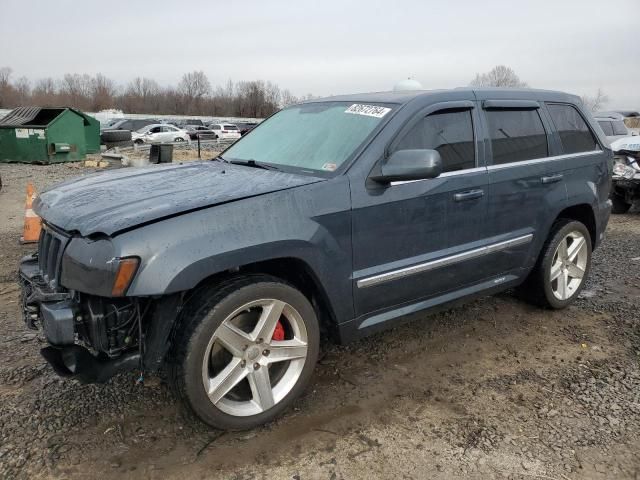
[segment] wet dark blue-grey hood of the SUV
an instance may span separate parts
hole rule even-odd
[[[45,190],[34,210],[63,230],[112,235],[160,218],[321,180],[214,161],[124,168]]]

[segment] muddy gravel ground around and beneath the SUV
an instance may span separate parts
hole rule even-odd
[[[26,182],[78,165],[0,165],[3,478],[640,478],[640,215],[612,218],[561,312],[509,294],[325,347],[312,387],[265,427],[185,420],[159,378],[61,380],[19,314]]]

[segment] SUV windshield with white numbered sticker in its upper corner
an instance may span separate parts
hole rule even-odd
[[[324,102],[281,110],[224,152],[229,161],[333,172],[391,111],[381,105]]]

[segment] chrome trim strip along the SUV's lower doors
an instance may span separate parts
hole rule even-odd
[[[408,277],[418,273],[427,272],[436,268],[453,265],[455,263],[463,262],[465,260],[471,260],[481,257],[483,255],[489,255],[491,253],[506,250],[509,247],[515,247],[517,245],[524,245],[531,242],[533,234],[522,235],[520,237],[504,240],[502,242],[493,243],[484,247],[474,248],[467,250],[466,252],[456,253],[455,255],[449,255],[448,257],[438,258],[437,260],[431,260],[429,262],[419,263],[410,267],[399,268],[397,270],[391,270],[389,272],[380,273],[378,275],[372,275],[371,277],[362,278],[357,281],[358,288],[367,288],[381,283],[390,282],[399,278]]]

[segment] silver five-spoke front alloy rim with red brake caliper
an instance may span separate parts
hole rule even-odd
[[[211,403],[235,416],[263,413],[291,392],[307,358],[307,329],[277,299],[242,305],[216,329],[202,361]]]

